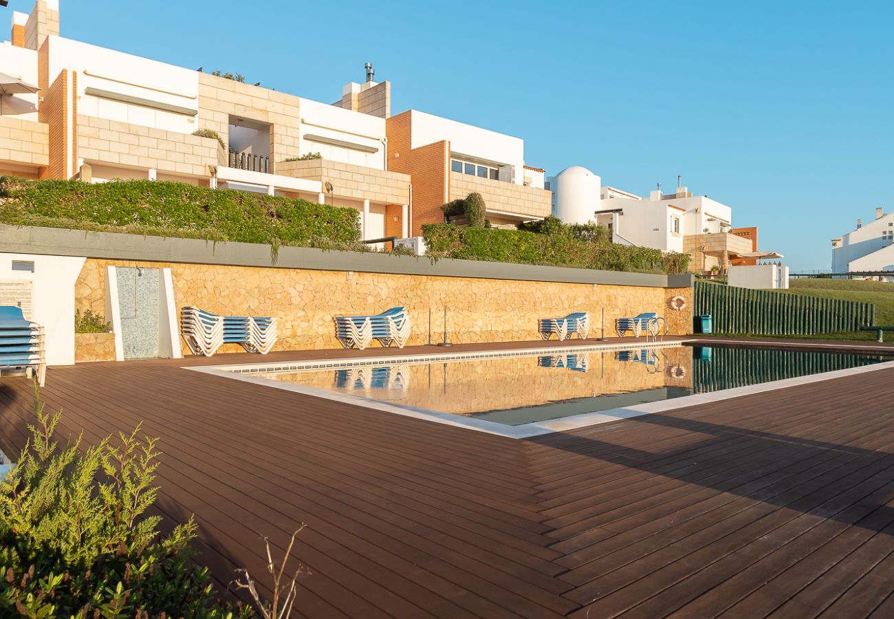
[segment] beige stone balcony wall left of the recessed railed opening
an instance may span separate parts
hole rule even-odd
[[[213,138],[78,115],[78,157],[88,163],[207,176],[219,148]]]

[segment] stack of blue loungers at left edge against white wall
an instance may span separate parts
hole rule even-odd
[[[23,372],[37,375],[38,385],[46,381],[44,327],[26,320],[21,308],[0,306],[0,374]]]

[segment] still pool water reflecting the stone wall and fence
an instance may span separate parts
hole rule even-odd
[[[264,372],[413,411],[519,426],[856,368],[894,357],[728,346],[537,354]]]

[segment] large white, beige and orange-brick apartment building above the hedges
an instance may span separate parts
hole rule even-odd
[[[523,140],[416,110],[392,116],[391,83],[368,64],[366,81],[327,104],[63,38],[59,24],[58,0],[38,0],[13,13],[0,44],[0,72],[39,89],[2,98],[0,174],[309,199],[356,208],[367,240],[420,234],[471,191],[494,223],[550,213]]]

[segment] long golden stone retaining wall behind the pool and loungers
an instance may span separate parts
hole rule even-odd
[[[274,316],[279,319],[276,350],[338,348],[333,316],[374,314],[397,305],[409,309],[410,344],[440,340],[443,309],[454,343],[513,342],[536,339],[537,318],[590,314],[592,336],[599,335],[605,311],[606,335],[614,319],[657,311],[673,334],[692,330],[691,289],[594,284],[520,282],[462,277],[345,273],[276,267],[227,267],[88,259],[75,284],[75,307],[111,315],[105,308],[105,267],[170,267],[177,307],[194,305],[218,314]],[[670,309],[680,294],[688,309]],[[376,344],[377,345],[377,344]],[[240,351],[233,345],[231,352]],[[226,351],[222,351],[226,352]]]

